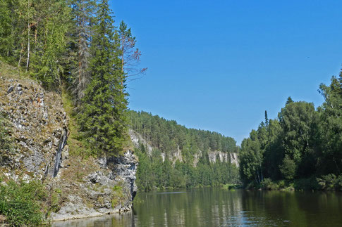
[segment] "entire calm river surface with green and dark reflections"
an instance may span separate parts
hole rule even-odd
[[[342,226],[342,194],[221,188],[139,193],[133,212],[52,226]]]

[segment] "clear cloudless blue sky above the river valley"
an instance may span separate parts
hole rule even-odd
[[[342,1],[110,1],[132,28],[147,73],[129,108],[238,141],[267,110],[323,102],[317,89],[342,63]]]

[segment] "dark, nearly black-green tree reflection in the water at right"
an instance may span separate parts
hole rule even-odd
[[[244,191],[245,218],[260,226],[338,226],[342,223],[341,193]]]

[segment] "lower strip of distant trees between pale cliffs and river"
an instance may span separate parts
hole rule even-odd
[[[240,183],[238,167],[230,162],[218,159],[216,163],[210,163],[202,158],[196,167],[191,162],[178,160],[172,164],[167,158],[163,162],[159,150],[154,150],[149,156],[143,145],[135,150],[135,154],[139,157],[136,183],[140,191]]]

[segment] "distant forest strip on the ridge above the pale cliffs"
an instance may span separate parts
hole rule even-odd
[[[130,111],[131,128],[142,135],[163,153],[177,150],[220,150],[224,153],[237,152],[236,141],[217,132],[200,129],[187,129],[174,120],[166,120],[148,112]]]

